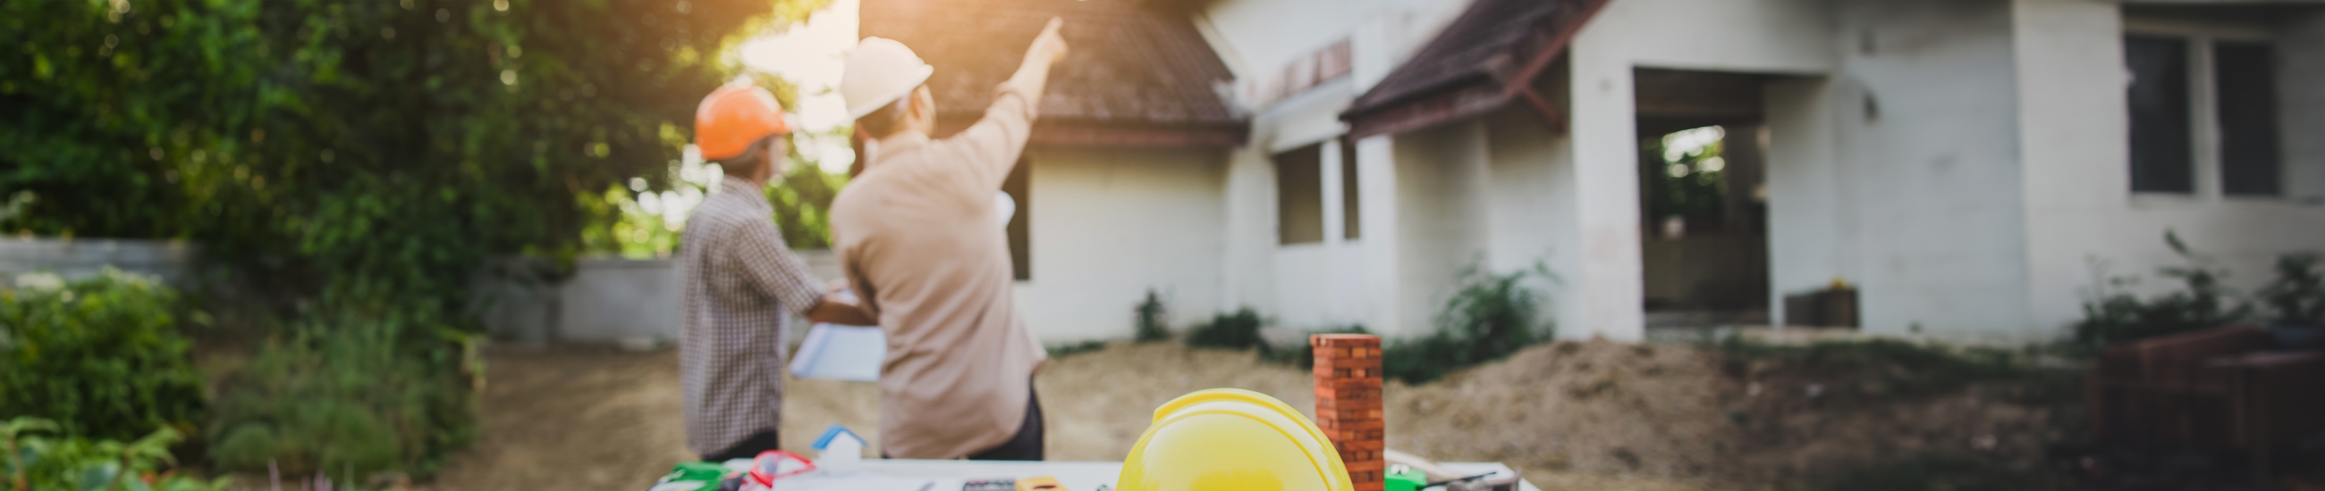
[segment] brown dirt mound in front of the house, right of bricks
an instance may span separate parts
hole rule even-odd
[[[1848,396],[1860,373],[1732,361],[1721,352],[1607,340],[1530,347],[1507,361],[1386,394],[1388,447],[1555,472],[1776,486],[1918,452],[2039,461],[2048,410],[1976,389]]]

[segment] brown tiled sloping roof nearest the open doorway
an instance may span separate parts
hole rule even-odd
[[[1537,76],[1548,56],[1562,51],[1574,30],[1607,0],[1476,0],[1453,23],[1430,39],[1402,67],[1388,72],[1381,83],[1348,104],[1344,118],[1358,120],[1388,113],[1418,100],[1465,90],[1495,88],[1486,100],[1465,100],[1497,107],[1509,102],[1504,86]],[[1465,111],[1467,111],[1465,109]]]

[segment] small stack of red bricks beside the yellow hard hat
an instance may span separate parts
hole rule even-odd
[[[1355,491],[1381,491],[1381,338],[1365,334],[1316,334],[1316,428],[1332,438],[1348,466]]]

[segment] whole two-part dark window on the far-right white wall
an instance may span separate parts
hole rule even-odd
[[[2127,35],[2134,192],[2281,195],[2276,53],[2211,35]],[[2218,185],[2218,188],[2213,188]]]

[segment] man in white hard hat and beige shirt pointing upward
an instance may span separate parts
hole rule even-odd
[[[1049,67],[1065,58],[1051,19],[993,107],[956,137],[930,139],[937,100],[900,42],[849,53],[839,95],[867,144],[865,167],[832,201],[832,250],[865,310],[888,334],[881,452],[897,459],[1042,459],[1032,394],[1042,345],[1011,299],[1009,239],[995,227],[1002,178],[1032,132]]]

